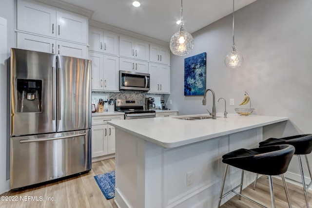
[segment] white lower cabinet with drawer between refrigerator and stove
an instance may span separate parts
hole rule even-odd
[[[115,127],[107,124],[110,120],[122,120],[124,115],[92,117],[92,158],[115,153]]]

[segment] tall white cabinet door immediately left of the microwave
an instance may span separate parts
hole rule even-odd
[[[119,57],[104,55],[104,91],[119,91]]]

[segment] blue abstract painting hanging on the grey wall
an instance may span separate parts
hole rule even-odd
[[[204,95],[206,52],[184,59],[184,95]]]

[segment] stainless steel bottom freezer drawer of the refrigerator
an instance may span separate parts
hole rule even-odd
[[[91,170],[91,130],[11,137],[10,189]]]

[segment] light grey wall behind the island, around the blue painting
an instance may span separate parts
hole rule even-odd
[[[312,133],[311,8],[311,0],[257,0],[235,12],[236,50],[244,56],[240,68],[224,64],[232,49],[232,15],[192,34],[194,50],[186,57],[207,52],[207,89],[215,91],[216,100],[226,98],[229,113],[235,113],[247,91],[255,114],[289,117],[281,136]],[[169,107],[178,109],[179,115],[206,113],[206,108],[212,109],[210,92],[207,106],[202,106],[203,96],[184,96],[186,57],[171,56]],[[224,111],[223,101],[216,103],[216,110]],[[294,159],[289,170],[298,173]]]

